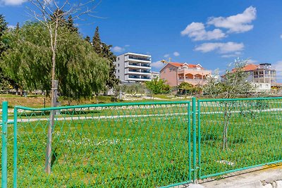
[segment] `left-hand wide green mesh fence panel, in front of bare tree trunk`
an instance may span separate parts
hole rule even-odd
[[[56,119],[47,175],[52,110]],[[189,111],[189,101],[16,106],[14,126],[8,126],[8,187],[161,187],[190,182]]]

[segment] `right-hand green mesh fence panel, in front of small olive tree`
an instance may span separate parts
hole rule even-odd
[[[282,162],[281,99],[199,100],[199,177]]]

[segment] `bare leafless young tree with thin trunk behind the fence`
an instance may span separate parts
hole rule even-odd
[[[85,15],[98,18],[93,15],[94,9],[101,1],[56,1],[56,0],[28,0],[33,7],[30,7],[30,15],[40,23],[44,24],[49,31],[51,58],[51,107],[56,106],[56,90],[58,82],[56,81],[56,49],[60,39],[59,27],[62,27],[63,20],[69,15],[73,20],[85,20]],[[52,131],[54,127],[55,111],[50,113],[50,123],[48,128],[47,151],[45,158],[45,171],[51,173],[51,142]]]

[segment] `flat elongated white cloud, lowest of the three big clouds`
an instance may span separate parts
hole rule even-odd
[[[204,44],[200,44],[199,46],[195,47],[195,51],[202,51],[203,53],[209,51],[216,51],[219,54],[228,54],[233,53],[235,51],[242,51],[244,49],[243,43],[236,43],[236,42],[208,42]]]

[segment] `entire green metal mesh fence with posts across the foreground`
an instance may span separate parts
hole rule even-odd
[[[172,187],[282,162],[282,98],[2,111],[2,187]]]

